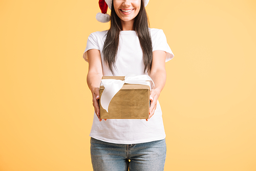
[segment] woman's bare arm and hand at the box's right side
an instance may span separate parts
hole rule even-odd
[[[166,57],[166,52],[164,51],[159,50],[159,51],[153,52],[152,68],[149,76],[153,79],[155,83],[155,87],[154,89],[151,90],[151,94],[150,94],[151,106],[150,106],[149,118],[151,118],[155,113],[155,110],[157,107],[157,100],[165,85],[165,81],[166,81],[165,57]]]

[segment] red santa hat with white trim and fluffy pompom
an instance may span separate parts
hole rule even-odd
[[[111,9],[113,0],[99,0],[99,8],[101,13],[96,14],[96,19],[101,23],[108,23],[110,21],[110,15],[106,13],[108,11],[108,7]],[[147,6],[150,0],[143,0],[144,6]]]

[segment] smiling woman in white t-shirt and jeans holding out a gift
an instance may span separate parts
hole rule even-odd
[[[93,96],[94,120],[91,159],[94,170],[163,170],[165,132],[158,97],[166,80],[165,62],[172,59],[160,29],[148,28],[145,5],[149,0],[105,0],[111,11],[109,30],[90,34],[83,58],[89,62],[88,86]],[[102,76],[148,74],[150,119],[99,118]],[[139,112],[139,111],[138,111]]]

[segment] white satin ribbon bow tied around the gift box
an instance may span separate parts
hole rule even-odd
[[[152,86],[152,84],[153,86]],[[100,86],[104,86],[104,90],[100,97],[100,104],[106,112],[109,112],[109,104],[116,93],[123,87],[123,84],[142,84],[154,88],[154,81],[148,75],[126,75],[124,81],[118,79],[102,79]]]

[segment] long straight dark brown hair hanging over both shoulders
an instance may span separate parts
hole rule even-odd
[[[111,73],[114,75],[114,69],[116,69],[116,55],[119,44],[119,33],[122,30],[122,25],[121,19],[115,12],[113,1],[111,9],[110,29],[106,34],[102,53],[104,55],[104,62],[109,66]],[[151,72],[153,59],[152,40],[150,31],[148,30],[149,25],[144,0],[141,0],[140,11],[135,17],[133,28],[139,38],[140,47],[143,52],[144,73],[145,71],[147,71],[147,73]]]

